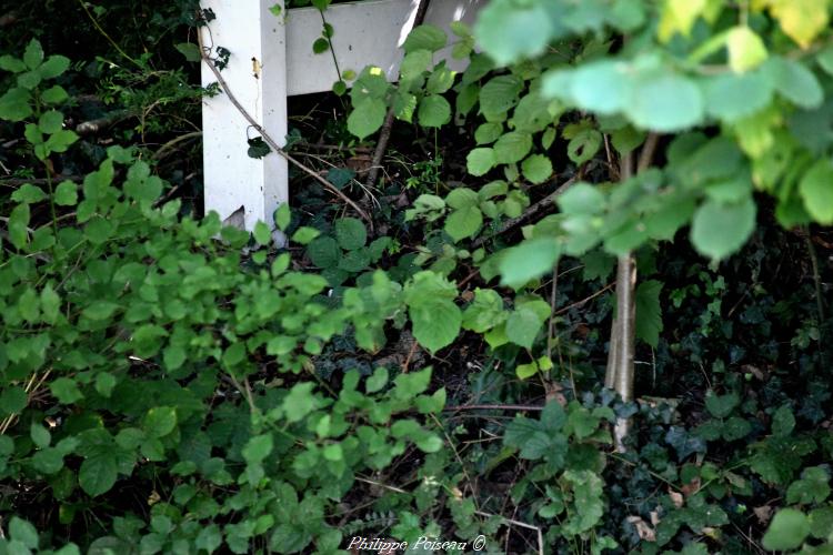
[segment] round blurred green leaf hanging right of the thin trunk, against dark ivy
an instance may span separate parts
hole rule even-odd
[[[706,201],[694,213],[691,242],[701,254],[721,260],[737,251],[755,229],[755,201],[733,204]]]

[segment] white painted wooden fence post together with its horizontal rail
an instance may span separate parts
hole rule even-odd
[[[287,97],[329,91],[339,79],[330,52],[315,54],[312,42],[321,36],[322,21],[314,8],[281,10],[270,7],[283,0],[203,0],[217,19],[202,29],[207,47],[220,46],[231,52],[222,71],[231,92],[267,132],[283,144],[287,135]],[[432,0],[425,23],[454,36],[452,21],[473,24],[478,8],[485,0]],[[400,46],[413,27],[419,0],[371,0],[337,3],[324,12],[333,26],[333,50],[342,71],[357,73],[365,65],[382,68],[394,81],[402,59]],[[435,61],[464,69],[451,58],[451,46]],[[253,60],[257,61],[255,68]],[[257,77],[255,77],[257,72]],[[203,62],[202,83],[215,82]],[[287,161],[277,153],[260,160],[247,155],[247,138],[257,131],[232,105],[225,94],[205,99],[202,109],[205,213],[217,211],[228,219],[241,206],[244,225],[251,230],[258,220],[273,225],[272,214],[289,200]],[[248,133],[248,135],[247,135]]]

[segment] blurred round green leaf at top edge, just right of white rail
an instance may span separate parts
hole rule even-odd
[[[500,65],[542,53],[553,33],[543,2],[494,0],[483,8],[474,26],[478,43]]]

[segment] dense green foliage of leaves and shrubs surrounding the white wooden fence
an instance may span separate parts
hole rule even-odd
[[[132,9],[81,16],[107,37]],[[0,56],[0,553],[831,553],[826,1],[492,0],[473,31],[419,27],[398,83],[342,73],[351,109],[319,127],[351,158],[322,173],[364,194],[350,134],[390,108],[429,154],[395,147],[372,226],[297,178],[281,249],[194,218],[189,149],[165,165],[172,114],[217,91],[181,68],[194,6],[154,9],[159,54]],[[90,93],[130,122],[72,131]],[[624,403],[600,376],[630,252]]]

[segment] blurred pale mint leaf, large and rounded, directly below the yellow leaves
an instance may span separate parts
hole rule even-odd
[[[688,77],[673,71],[638,79],[625,113],[636,125],[659,132],[681,131],[703,120],[703,95]]]

